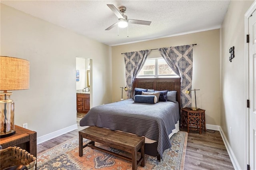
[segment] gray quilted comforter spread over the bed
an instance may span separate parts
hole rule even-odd
[[[96,106],[80,120],[80,126],[121,130],[158,141],[161,155],[171,147],[168,135],[180,119],[178,102],[134,103],[132,99]]]

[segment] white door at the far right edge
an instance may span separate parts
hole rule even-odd
[[[249,147],[250,169],[256,170],[256,12],[249,18]]]

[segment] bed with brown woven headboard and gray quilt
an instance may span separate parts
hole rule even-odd
[[[127,99],[96,106],[81,119],[80,126],[97,126],[120,130],[146,138],[145,153],[157,156],[171,147],[170,137],[179,130],[180,78],[135,79],[133,88],[156,91],[177,91],[176,102],[161,101],[156,104],[135,103]]]

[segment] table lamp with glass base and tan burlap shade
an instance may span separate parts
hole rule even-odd
[[[8,90],[29,89],[29,61],[0,56],[0,138],[15,134],[14,101]]]

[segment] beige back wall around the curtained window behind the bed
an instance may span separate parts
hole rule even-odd
[[[123,52],[197,43],[193,49],[193,82],[197,107],[206,110],[206,124],[220,125],[220,34],[219,29],[112,47],[112,101],[121,99],[126,86]],[[152,53],[158,54],[157,50]],[[160,56],[160,55],[159,55]],[[194,96],[194,93],[192,93]],[[194,97],[192,97],[194,106]]]

